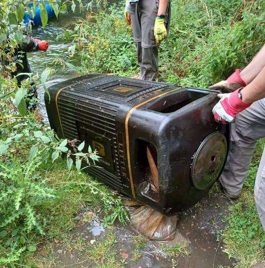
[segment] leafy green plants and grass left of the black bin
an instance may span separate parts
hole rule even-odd
[[[32,84],[47,91],[45,82],[54,70],[29,74],[21,85],[11,76],[21,64],[14,53],[31,32],[22,23],[27,2],[0,3],[0,267],[28,265],[44,240],[67,241],[66,232],[75,227],[74,215],[82,205],[98,207],[106,227],[116,219],[128,221],[121,199],[81,173],[81,162],[95,165],[97,153],[90,147],[84,152],[82,141],[59,140],[41,123],[38,111],[31,111],[36,102],[30,98]],[[66,3],[52,2],[57,16]],[[75,3],[70,3],[73,11]],[[47,12],[42,4],[40,9],[45,27]]]

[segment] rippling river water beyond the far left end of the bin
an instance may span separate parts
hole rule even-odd
[[[85,1],[83,1],[83,3],[85,3]],[[32,36],[34,38],[46,40],[49,43],[47,52],[36,51],[28,53],[28,59],[33,73],[38,72],[41,74],[41,72],[51,65],[56,58],[60,58],[66,62],[74,62],[75,58],[71,58],[69,60],[68,54],[68,47],[71,43],[63,40],[63,38],[57,37],[60,36],[66,29],[73,29],[77,20],[84,18],[86,13],[87,11],[80,13],[78,8],[76,8],[75,13],[72,13],[71,11],[61,13],[59,14],[58,19],[54,16],[48,21],[45,28],[41,26],[33,28]],[[76,76],[78,76],[77,72],[70,70],[67,66],[65,68],[59,66],[56,67],[55,74],[51,77],[51,79],[46,82],[46,86],[49,87],[53,84]],[[38,89],[38,98],[38,108],[43,116],[43,122],[48,123],[48,117],[44,105],[44,91],[41,86],[39,86]]]

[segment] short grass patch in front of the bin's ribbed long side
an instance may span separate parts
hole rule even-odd
[[[45,256],[42,256],[39,252],[34,254],[25,252],[23,256],[25,259],[24,263],[28,268],[49,268],[58,263],[54,254],[54,248],[56,247],[54,241],[57,243],[59,241],[66,252],[84,252],[87,248],[86,239],[76,236],[72,233],[72,230],[79,224],[88,223],[95,215],[100,215],[100,220],[105,223],[106,227],[111,225],[104,221],[104,206],[110,209],[111,203],[116,198],[106,186],[90,178],[87,174],[78,173],[75,170],[68,172],[64,159],[54,164],[48,162],[47,165],[41,166],[40,169],[43,177],[46,178],[48,185],[55,191],[57,197],[42,202],[38,207],[38,211],[43,219],[42,224],[45,235],[41,237],[31,233],[26,236],[28,243],[37,246],[38,249],[42,248],[47,253],[44,254]],[[97,193],[95,193],[95,189],[97,189]],[[105,205],[104,202],[106,202]],[[77,215],[80,208],[87,210],[82,218]],[[125,215],[127,215],[125,208],[119,206],[118,209],[119,212],[121,209],[124,209]],[[110,213],[112,212],[110,211]],[[106,216],[109,217],[109,215]],[[87,251],[86,254],[88,254],[89,260],[101,263],[99,268],[122,268],[119,263],[114,265],[116,264],[115,252],[110,248],[115,243],[116,240],[113,232],[109,232],[105,241],[96,243],[96,246],[91,246]],[[101,255],[95,259],[94,257],[98,255],[97,251],[100,251]],[[108,264],[109,266],[107,266]]]

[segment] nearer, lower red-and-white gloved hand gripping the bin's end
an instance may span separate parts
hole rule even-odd
[[[235,115],[248,108],[251,103],[245,103],[240,100],[238,93],[239,88],[232,93],[218,94],[221,100],[214,106],[212,112],[216,122],[224,124],[234,121]]]

